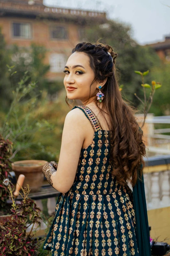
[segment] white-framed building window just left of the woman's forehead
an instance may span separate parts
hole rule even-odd
[[[66,63],[65,55],[61,53],[52,53],[50,55],[50,72],[61,73]]]

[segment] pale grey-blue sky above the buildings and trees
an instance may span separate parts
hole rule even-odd
[[[44,5],[105,11],[108,19],[130,24],[141,45],[170,36],[170,0],[44,0]]]

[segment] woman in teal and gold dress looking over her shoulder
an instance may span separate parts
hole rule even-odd
[[[151,255],[143,133],[121,97],[116,57],[99,41],[78,43],[65,66],[67,97],[82,104],[66,115],[58,164],[43,167],[60,192],[44,243],[55,256]]]

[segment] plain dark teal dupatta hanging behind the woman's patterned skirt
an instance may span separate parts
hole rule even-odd
[[[133,199],[136,222],[136,241],[138,245],[139,256],[151,256],[149,224],[143,174],[142,181],[138,179],[137,183],[133,187]]]

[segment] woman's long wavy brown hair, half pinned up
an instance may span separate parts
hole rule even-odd
[[[146,156],[146,150],[142,139],[143,131],[135,119],[135,113],[138,111],[122,98],[119,90],[115,67],[115,59],[118,54],[113,51],[110,45],[100,43],[99,40],[96,43],[78,43],[72,50],[72,53],[74,52],[83,52],[88,55],[90,66],[95,74],[91,86],[96,80],[102,81],[107,77],[107,81],[101,89],[101,92],[104,93],[103,106],[102,108],[98,107],[100,103],[97,97],[95,104],[100,111],[105,109],[110,117],[110,125],[108,126],[112,134],[110,143],[111,173],[120,185],[127,185],[127,181],[129,181],[134,187],[137,179],[142,180],[145,166],[143,157]],[[91,86],[88,100],[90,99]],[[97,92],[98,90],[94,95]],[[67,96],[65,100],[67,105],[71,106]],[[107,120],[106,123],[108,124]]]

